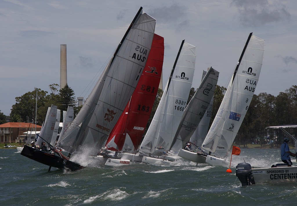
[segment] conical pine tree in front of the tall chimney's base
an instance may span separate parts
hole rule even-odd
[[[60,89],[60,108],[62,111],[67,111],[68,106],[75,107],[74,91],[68,84],[64,88]]]

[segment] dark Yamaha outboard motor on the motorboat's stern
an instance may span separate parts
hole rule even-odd
[[[238,177],[240,180],[241,186],[255,184],[252,174],[252,167],[249,163],[239,163],[236,166],[236,177]]]

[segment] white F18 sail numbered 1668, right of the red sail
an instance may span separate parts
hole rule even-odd
[[[141,152],[153,153],[170,149],[189,98],[195,59],[196,47],[183,40],[157,111],[140,144]]]

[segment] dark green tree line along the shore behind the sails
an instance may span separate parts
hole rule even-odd
[[[32,119],[35,120],[36,99],[38,125],[42,125],[47,109],[52,104],[58,106],[58,109],[60,109],[61,111],[66,111],[68,106],[73,106],[75,108],[75,115],[78,113],[81,106],[76,106],[74,96],[75,93],[68,85],[65,85],[65,87],[60,90],[58,89],[58,84],[51,84],[49,85],[49,88],[51,91],[50,94],[48,94],[47,91],[35,88],[32,92],[27,92],[21,97],[16,97],[16,103],[12,106],[10,113],[12,121],[28,122]],[[225,92],[225,87],[217,85],[214,91],[214,102],[210,125],[219,109]],[[162,94],[162,89],[159,89],[146,130],[148,129],[154,117]],[[188,102],[194,94],[195,89],[191,88]],[[275,137],[282,136],[283,134],[280,131],[270,132],[268,134],[270,136],[270,139],[267,140],[267,131],[265,130],[265,128],[268,126],[295,124],[297,122],[296,114],[296,85],[293,85],[289,89],[286,89],[285,92],[280,92],[277,96],[267,94],[266,92],[262,92],[259,95],[254,95],[247,110],[247,114],[235,138],[235,142],[239,145],[241,144],[243,146],[246,146],[246,144],[251,144],[252,142],[266,144],[267,141],[270,141],[271,147],[277,146],[282,143],[282,138],[276,139]],[[5,117],[6,116],[0,111],[1,124],[5,123]],[[292,131],[294,135],[296,132],[294,130]],[[271,139],[273,139],[273,141],[271,141]]]

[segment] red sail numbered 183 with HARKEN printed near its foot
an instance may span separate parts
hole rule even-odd
[[[118,152],[138,149],[158,92],[163,58],[164,38],[154,34],[146,66],[130,101],[108,136],[105,149]]]

